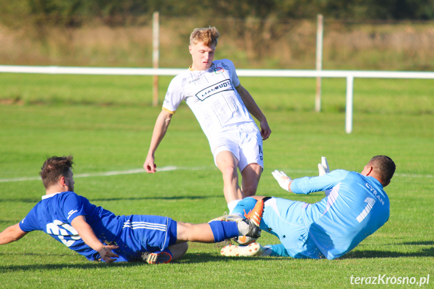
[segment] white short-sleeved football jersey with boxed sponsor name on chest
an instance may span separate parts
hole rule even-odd
[[[185,100],[211,139],[226,125],[254,122],[235,89],[239,85],[232,61],[214,60],[207,70],[188,69],[175,76],[167,89],[163,110],[173,114]]]

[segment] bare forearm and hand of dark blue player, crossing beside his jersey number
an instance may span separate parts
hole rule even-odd
[[[117,254],[112,252],[113,249],[117,249],[119,248],[119,246],[104,245],[103,243],[101,243],[95,235],[94,231],[92,230],[91,226],[86,222],[84,216],[78,216],[74,218],[74,220],[71,221],[71,225],[77,231],[78,235],[81,237],[84,243],[88,244],[89,247],[91,247],[95,251],[98,251],[104,261],[111,263],[115,261],[113,257],[119,257]]]

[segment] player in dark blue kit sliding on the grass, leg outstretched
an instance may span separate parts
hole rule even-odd
[[[18,224],[0,233],[0,245],[40,230],[87,259],[106,262],[167,263],[187,251],[187,241],[214,243],[241,235],[258,237],[258,222],[209,224],[176,222],[167,217],[117,216],[75,194],[72,156],[50,157],[42,166],[46,189],[36,206]],[[252,213],[261,216],[261,212]]]

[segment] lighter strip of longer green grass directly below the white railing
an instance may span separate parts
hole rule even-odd
[[[171,76],[159,77],[161,104]],[[243,77],[241,83],[262,109],[310,112],[315,78]],[[151,76],[0,74],[0,103],[150,106]],[[344,78],[323,78],[324,112],[345,111]],[[354,111],[380,114],[434,114],[433,79],[366,79],[354,83]]]

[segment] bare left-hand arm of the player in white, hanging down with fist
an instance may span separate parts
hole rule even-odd
[[[154,154],[155,151],[157,150],[158,145],[160,144],[161,140],[164,138],[164,135],[166,134],[172,116],[173,114],[165,110],[162,110],[155,122],[148,155],[146,156],[145,163],[143,164],[143,167],[148,173],[154,173],[156,171],[157,165],[154,163],[155,161]]]

